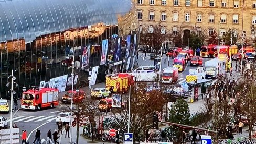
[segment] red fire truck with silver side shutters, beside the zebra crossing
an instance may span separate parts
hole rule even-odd
[[[22,93],[22,109],[41,110],[59,105],[59,90],[54,88],[30,89]]]

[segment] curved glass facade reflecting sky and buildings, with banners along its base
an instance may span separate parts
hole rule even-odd
[[[0,92],[9,97],[14,70],[16,94],[23,87],[71,89],[105,80],[134,64],[138,20],[130,0],[0,1]]]

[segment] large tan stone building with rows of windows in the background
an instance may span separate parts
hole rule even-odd
[[[228,29],[246,31],[251,41],[252,25],[256,23],[255,0],[133,0],[137,9],[140,30],[149,30],[159,21],[163,32],[183,34],[194,28],[208,35],[214,32],[223,35]],[[252,36],[252,37],[253,37]]]

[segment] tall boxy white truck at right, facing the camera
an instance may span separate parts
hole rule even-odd
[[[218,78],[226,73],[226,59],[215,58],[205,62],[206,79]]]

